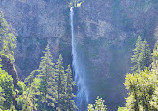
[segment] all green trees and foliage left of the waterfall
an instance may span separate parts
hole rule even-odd
[[[9,26],[4,19],[3,13],[0,13],[0,57],[5,56],[14,63],[14,49],[16,47],[16,37],[9,33]],[[2,60],[0,64],[0,110],[12,111],[74,111],[77,109],[73,94],[75,82],[72,78],[70,65],[65,70],[63,67],[63,58],[59,55],[56,63],[53,63],[53,57],[49,48],[46,46],[41,57],[39,68],[25,79],[24,82],[13,78],[9,70],[2,70],[5,65]],[[10,66],[8,66],[10,67]],[[16,79],[16,84],[13,84]]]

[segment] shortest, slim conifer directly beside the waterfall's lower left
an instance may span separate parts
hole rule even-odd
[[[66,69],[66,76],[67,76],[67,81],[66,81],[66,98],[65,98],[65,103],[66,103],[66,111],[75,111],[77,109],[77,106],[75,105],[75,102],[73,98],[75,95],[73,94],[73,86],[75,85],[75,82],[73,81],[72,78],[72,71],[70,68],[70,65],[68,65]]]

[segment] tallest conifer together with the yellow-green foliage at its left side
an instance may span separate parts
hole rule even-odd
[[[45,48],[44,56],[40,62],[39,68],[25,79],[27,84],[26,97],[30,98],[34,106],[40,110],[46,110],[48,106],[55,106],[57,95],[55,83],[54,63],[49,45]]]

